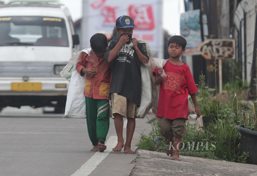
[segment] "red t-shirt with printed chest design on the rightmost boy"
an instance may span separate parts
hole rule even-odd
[[[157,117],[167,119],[185,118],[188,120],[188,94],[197,93],[194,78],[187,64],[174,65],[168,61],[163,66],[167,76],[160,84]],[[158,74],[158,68],[153,75]]]

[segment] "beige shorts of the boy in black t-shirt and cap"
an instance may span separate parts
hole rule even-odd
[[[114,114],[121,114],[123,117],[135,118],[137,105],[117,93],[112,93],[112,118]]]

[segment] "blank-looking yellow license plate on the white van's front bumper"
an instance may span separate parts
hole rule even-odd
[[[31,82],[22,82],[22,83],[11,83],[12,91],[42,91],[41,83],[31,83]]]

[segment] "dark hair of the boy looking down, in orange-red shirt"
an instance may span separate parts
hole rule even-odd
[[[104,34],[96,33],[90,38],[91,49],[99,54],[102,53],[104,48],[107,48],[107,38]]]

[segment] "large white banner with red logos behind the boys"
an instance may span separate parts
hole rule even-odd
[[[163,34],[160,0],[84,0],[82,19],[82,47],[90,47],[89,40],[98,32],[111,36],[116,19],[122,15],[134,19],[133,36],[146,40],[151,48],[163,54]],[[160,36],[162,36],[160,38]]]

